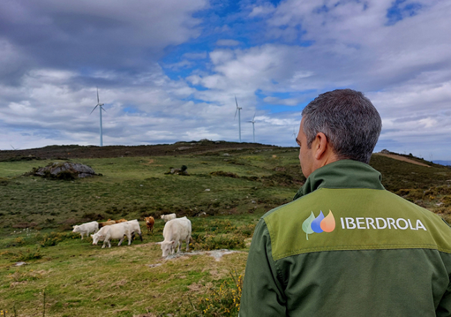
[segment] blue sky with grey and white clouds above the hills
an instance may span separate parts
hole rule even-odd
[[[451,2],[0,1],[0,150],[241,140],[296,146],[319,93],[363,91],[375,151],[451,160]]]

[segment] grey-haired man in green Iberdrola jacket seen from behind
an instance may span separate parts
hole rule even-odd
[[[368,165],[381,127],[358,91],[305,107],[307,181],[255,228],[240,317],[451,316],[451,228],[384,190]]]

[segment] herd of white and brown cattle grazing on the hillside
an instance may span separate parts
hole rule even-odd
[[[187,244],[186,251],[189,250],[189,240],[191,239],[191,221],[187,217],[177,218],[176,214],[162,215],[161,219],[164,220],[163,237],[164,241],[157,242],[160,244],[162,250],[162,256],[166,257],[169,253],[173,254],[178,248],[177,252],[180,252],[182,242],[185,240]],[[145,217],[148,233],[153,232],[153,225],[155,219],[153,217]],[[137,219],[127,221],[126,219],[111,220],[105,222],[91,221],[85,224],[76,225],[73,227],[74,233],[80,233],[81,239],[83,236],[91,235],[92,244],[97,245],[99,241],[103,241],[102,248],[105,248],[108,244],[108,248],[111,248],[111,240],[119,239],[120,246],[124,241],[124,237],[128,239],[128,245],[131,244],[133,237],[139,235],[142,241],[141,228],[139,227],[139,221]]]

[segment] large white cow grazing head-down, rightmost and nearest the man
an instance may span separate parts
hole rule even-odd
[[[157,242],[160,244],[161,250],[163,251],[164,257],[174,253],[176,247],[178,246],[177,252],[180,252],[183,240],[187,244],[187,251],[189,250],[189,239],[191,239],[191,221],[187,217],[176,218],[164,225],[163,229],[164,241]]]

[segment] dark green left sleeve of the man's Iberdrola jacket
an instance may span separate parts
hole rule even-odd
[[[285,316],[285,303],[271,255],[271,238],[264,219],[260,219],[250,244],[239,316]]]

